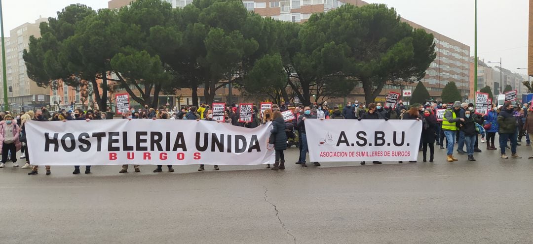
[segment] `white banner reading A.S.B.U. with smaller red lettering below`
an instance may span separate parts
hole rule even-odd
[[[414,161],[417,120],[305,120],[311,162]]]

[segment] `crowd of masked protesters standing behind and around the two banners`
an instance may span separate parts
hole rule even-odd
[[[390,105],[390,104],[389,104]],[[486,142],[487,150],[496,150],[495,136],[499,136],[499,149],[502,158],[508,158],[506,149],[511,149],[512,158],[521,158],[516,153],[516,146],[520,146],[518,142],[525,136],[527,146],[530,146],[530,138],[533,136],[533,111],[529,111],[528,104],[523,106],[516,106],[511,103],[498,107],[491,104],[490,109],[486,114],[475,113],[474,105],[472,103],[461,103],[456,101],[453,104],[446,104],[441,102],[427,101],[420,106],[406,106],[402,100],[398,104],[390,107],[384,107],[381,103],[370,103],[367,105],[359,103],[355,100],[353,103],[348,102],[344,107],[334,106],[328,107],[327,102],[323,104],[314,103],[310,106],[298,104],[296,106],[289,103],[273,104],[272,108],[261,112],[257,106],[253,106],[252,120],[248,122],[240,122],[239,120],[239,104],[232,104],[225,108],[224,123],[234,126],[255,128],[261,124],[272,122],[271,136],[269,138],[268,149],[275,151],[275,162],[271,167],[267,164],[266,167],[271,170],[285,169],[285,155],[284,151],[291,145],[289,142],[293,141],[297,144],[300,153],[296,164],[302,167],[307,167],[306,157],[308,153],[307,137],[305,130],[305,120],[308,119],[352,119],[352,120],[418,120],[422,121],[421,141],[419,150],[422,151],[423,162],[427,162],[427,149],[429,148],[429,162],[434,162],[435,141],[441,149],[446,149],[447,161],[454,162],[459,159],[454,156],[454,147],[457,144],[456,152],[458,154],[466,154],[468,161],[475,161],[474,153],[481,153],[479,142]],[[437,118],[437,110],[445,110],[442,118]],[[295,119],[292,121],[284,121],[281,112],[292,111]],[[0,152],[2,153],[2,161],[0,168],[5,167],[8,161],[13,162],[13,167],[18,167],[17,152],[21,151],[21,159],[25,159],[26,163],[22,166],[23,169],[31,168],[28,175],[35,175],[38,173],[38,166],[30,165],[30,155],[28,146],[26,144],[26,128],[25,123],[29,120],[34,121],[71,121],[71,120],[109,120],[114,119],[115,113],[108,107],[105,112],[99,110],[87,111],[77,109],[74,111],[61,110],[56,113],[50,113],[46,107],[28,112],[21,112],[12,115],[7,112],[0,113]],[[149,108],[144,106],[138,110],[131,110],[122,113],[123,119],[168,119],[168,120],[205,120],[221,123],[222,121],[214,120],[213,110],[208,104],[201,104],[199,107],[191,106],[181,108],[176,107],[168,109],[166,106],[160,108]],[[416,133],[416,132],[415,132]],[[486,140],[485,140],[486,139]],[[446,141],[446,144],[444,142]],[[510,142],[510,145],[507,143]],[[533,145],[531,145],[533,149]],[[465,151],[466,149],[466,151]],[[533,159],[530,156],[529,159]],[[417,161],[410,161],[416,163]],[[374,161],[374,164],[382,164],[382,162]],[[402,163],[400,161],[400,163]],[[365,162],[361,162],[365,164]],[[319,162],[314,162],[313,165],[320,166]],[[154,170],[155,173],[162,172],[163,165],[157,165]],[[139,165],[133,165],[135,172],[140,172]],[[167,165],[169,172],[174,172],[172,165]],[[219,170],[218,165],[214,165],[214,170]],[[50,166],[45,166],[46,174],[51,174]],[[126,173],[128,165],[122,165],[119,173]],[[200,165],[198,171],[204,171],[204,165]],[[79,166],[74,167],[73,174],[79,174]],[[85,166],[85,174],[91,173],[91,166]]]

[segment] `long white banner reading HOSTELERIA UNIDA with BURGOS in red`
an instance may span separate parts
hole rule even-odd
[[[191,120],[26,122],[33,165],[273,163],[270,129]]]

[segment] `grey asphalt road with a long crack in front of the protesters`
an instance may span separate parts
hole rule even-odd
[[[476,162],[435,154],[434,163],[304,169],[293,148],[278,172],[144,165],[118,174],[115,165],[28,176],[7,163],[0,243],[533,243],[531,148],[519,147],[522,159],[483,149]]]

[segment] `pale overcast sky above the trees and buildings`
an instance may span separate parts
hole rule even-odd
[[[68,4],[82,3],[93,9],[107,7],[107,0],[3,0],[4,31],[39,15],[57,16]],[[384,3],[410,21],[470,46],[474,55],[473,0],[366,0]],[[478,1],[478,56],[485,61],[499,61],[503,67],[519,73],[527,68],[528,0]],[[496,64],[498,65],[498,64]],[[498,65],[499,66],[499,65]]]

